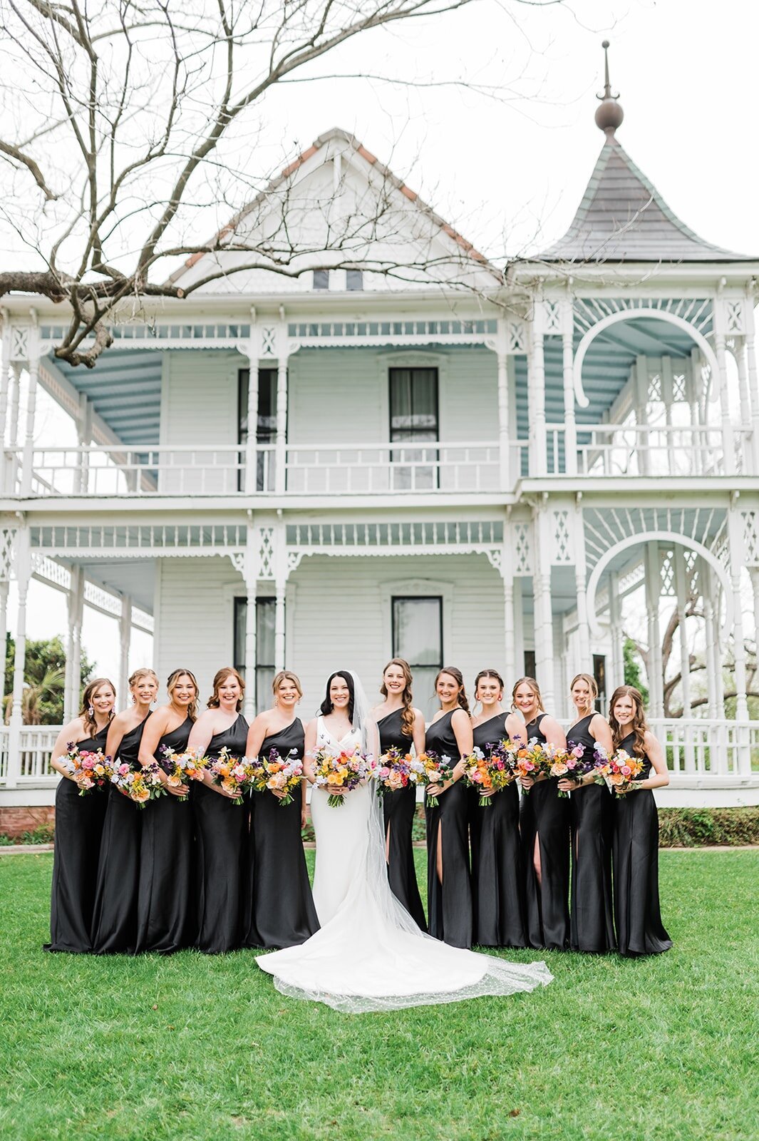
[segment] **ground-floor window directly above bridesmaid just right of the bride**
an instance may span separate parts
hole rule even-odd
[[[393,598],[393,657],[405,657],[414,674],[414,702],[426,720],[438,711],[435,674],[442,669],[442,598]]]

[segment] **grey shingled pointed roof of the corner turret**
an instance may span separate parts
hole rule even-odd
[[[613,131],[572,225],[540,261],[754,261],[694,234],[638,170]]]

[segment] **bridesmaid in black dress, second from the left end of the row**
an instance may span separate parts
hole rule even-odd
[[[108,727],[108,756],[138,767],[138,754],[150,705],[158,693],[153,670],[134,670],[129,679],[130,709]],[[133,955],[137,946],[137,888],[139,882],[142,811],[125,793],[108,790],[100,860],[95,889],[92,950],[98,954]]]

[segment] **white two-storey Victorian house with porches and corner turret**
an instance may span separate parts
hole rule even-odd
[[[303,251],[332,213],[344,234],[362,213],[360,267],[344,267],[344,244],[341,268],[300,254],[319,266],[300,276],[244,268],[235,249],[195,257],[174,282],[207,283],[124,314],[92,370],[56,362],[59,306],[6,299],[0,624],[14,576],[18,637],[0,803],[52,796],[51,730],[21,718],[32,575],[67,592],[71,662],[83,605],[120,616],[120,699],[139,625],[162,679],[186,665],[205,698],[234,663],[253,713],[287,666],[308,715],[332,669],[373,694],[398,654],[427,710],[450,663],[470,683],[484,666],[509,687],[534,673],[568,717],[579,670],[605,697],[623,681],[625,600],[644,590],[650,713],[675,769],[661,802],[757,802],[741,594],[753,589],[759,614],[759,259],[674,215],[619,143],[609,88],[597,123],[569,232],[505,277],[333,130],[232,220],[229,245],[276,243],[285,201]],[[40,386],[75,419],[77,446],[36,446]],[[666,598],[683,673],[670,719]],[[75,689],[71,671],[70,714]]]

